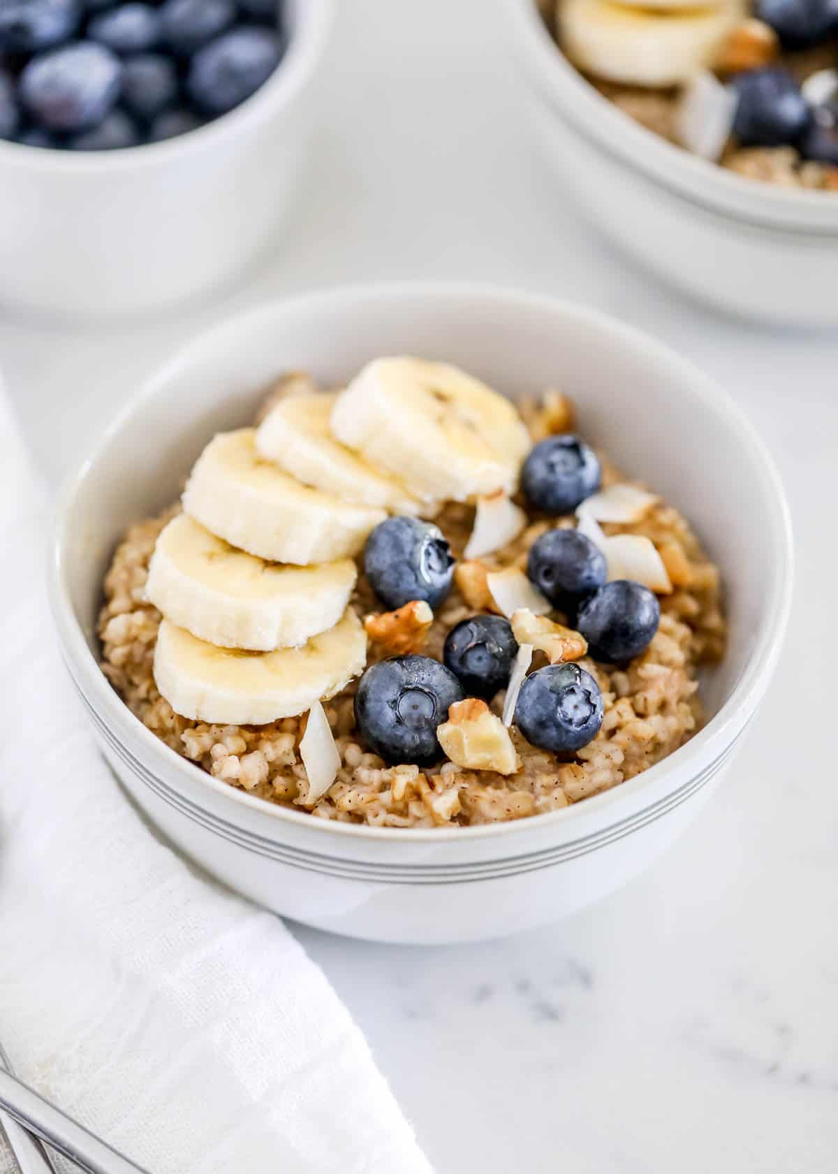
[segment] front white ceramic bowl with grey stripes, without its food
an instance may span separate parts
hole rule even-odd
[[[614,790],[516,823],[371,829],[211,778],[149,733],[96,664],[102,574],[129,522],[177,497],[218,429],[284,369],[326,384],[377,355],[445,358],[515,397],[560,386],[583,434],[682,506],[722,567],[730,650],[712,720]],[[373,286],[265,306],[165,364],[63,490],[50,593],[67,667],[114,770],[208,871],[297,920],[387,942],[455,942],[555,920],[646,869],[722,777],[783,639],[791,539],[771,459],[736,405],[671,351],[592,310],[472,286]],[[732,780],[731,780],[732,782]]]

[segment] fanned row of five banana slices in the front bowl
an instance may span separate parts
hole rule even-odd
[[[502,396],[412,358],[216,436],[149,567],[162,696],[183,717],[261,726],[339,693],[366,663],[349,605],[371,531],[387,513],[511,491],[528,448]]]

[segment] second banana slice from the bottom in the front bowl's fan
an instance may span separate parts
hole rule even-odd
[[[146,595],[200,640],[272,652],[334,627],[357,578],[352,559],[316,567],[265,562],[178,514],[157,539]]]

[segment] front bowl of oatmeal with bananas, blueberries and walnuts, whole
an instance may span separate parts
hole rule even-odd
[[[68,481],[50,589],[178,848],[309,924],[447,942],[676,838],[768,686],[791,547],[755,433],[665,349],[384,286],[175,356]]]

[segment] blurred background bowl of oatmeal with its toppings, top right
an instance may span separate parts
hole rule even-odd
[[[838,36],[824,23],[800,47],[792,8],[809,11],[506,0],[502,12],[548,182],[725,313],[830,326]]]

